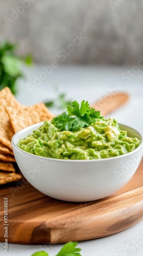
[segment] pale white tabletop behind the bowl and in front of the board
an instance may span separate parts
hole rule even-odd
[[[81,101],[82,99],[93,102],[107,93],[107,89],[114,88],[116,82],[123,84],[123,90],[131,95],[128,104],[112,113],[118,122],[130,125],[137,130],[143,130],[143,71],[133,74],[130,82],[122,79],[123,72],[129,67],[59,67],[54,70],[42,84],[29,92],[27,81],[19,81],[19,94],[17,99],[26,105],[37,103],[54,97],[54,86],[59,85],[61,92],[67,93],[67,98]],[[26,71],[28,81],[33,82],[33,75],[38,75],[42,69],[32,68]],[[59,112],[55,109],[55,114]],[[82,256],[142,256],[143,255],[143,221],[121,233],[92,241],[79,242]],[[46,250],[49,256],[54,256],[61,245],[15,245],[9,244],[8,253],[4,252],[1,243],[0,254],[10,256],[30,256],[37,250]]]

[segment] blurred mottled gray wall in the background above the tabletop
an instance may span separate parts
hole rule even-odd
[[[0,42],[17,42],[37,63],[136,65],[142,10],[142,0],[0,0]],[[72,47],[80,33],[86,39]]]

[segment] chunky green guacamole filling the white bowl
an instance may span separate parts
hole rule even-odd
[[[94,124],[76,132],[61,132],[51,121],[45,121],[32,135],[20,139],[18,147],[42,157],[88,160],[120,156],[139,143],[121,131],[115,119],[97,118]]]

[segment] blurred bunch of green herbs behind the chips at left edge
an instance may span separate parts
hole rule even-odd
[[[26,59],[15,54],[16,45],[5,41],[0,45],[0,91],[9,87],[13,94],[16,94],[16,80],[22,77],[21,63],[31,65],[32,57],[28,55]]]

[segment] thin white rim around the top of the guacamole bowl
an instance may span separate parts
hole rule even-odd
[[[17,151],[19,151],[20,153],[23,153],[23,154],[26,154],[26,155],[30,155],[31,157],[36,157],[36,158],[39,158],[39,159],[47,159],[47,160],[50,160],[50,161],[60,161],[60,162],[76,162],[76,163],[79,163],[79,162],[81,162],[81,163],[85,163],[85,162],[99,162],[99,161],[111,161],[111,160],[113,160],[113,159],[116,159],[116,158],[124,158],[124,157],[126,157],[126,156],[129,156],[129,155],[132,155],[132,154],[134,154],[135,152],[138,152],[139,150],[140,150],[140,148],[143,146],[143,135],[139,132],[139,131],[137,131],[136,129],[134,129],[134,128],[132,128],[131,126],[129,126],[129,125],[126,125],[126,124],[122,124],[122,123],[118,123],[118,125],[120,126],[120,125],[123,125],[123,126],[126,126],[126,127],[128,127],[129,129],[131,129],[131,130],[133,130],[134,132],[136,132],[138,135],[139,135],[139,137],[140,137],[140,144],[135,148],[135,150],[133,150],[133,151],[131,151],[131,152],[128,152],[128,153],[126,153],[126,154],[124,154],[124,155],[121,155],[121,156],[115,156],[115,157],[109,157],[109,158],[101,158],[101,159],[85,159],[85,160],[72,160],[72,159],[58,159],[58,158],[50,158],[50,157],[42,157],[42,156],[37,156],[37,155],[33,155],[33,154],[31,154],[31,153],[28,153],[28,152],[26,152],[26,151],[23,151],[23,150],[21,150],[21,148],[19,148],[17,145],[16,145],[16,143],[14,142],[14,140],[15,140],[15,138],[17,137],[17,136],[19,136],[21,133],[24,133],[24,132],[27,132],[29,129],[32,129],[32,128],[34,128],[35,126],[41,126],[42,124],[44,123],[44,121],[42,121],[42,122],[39,122],[39,123],[35,123],[35,124],[32,124],[32,125],[30,125],[30,126],[27,126],[27,127],[25,127],[25,128],[23,128],[23,129],[21,129],[20,131],[18,131],[17,133],[15,133],[14,135],[13,135],[13,137],[12,137],[12,139],[11,139],[11,143],[12,143],[12,147],[14,147],[15,148],[15,150],[17,150]],[[38,128],[38,127],[37,127]]]

